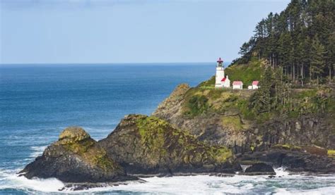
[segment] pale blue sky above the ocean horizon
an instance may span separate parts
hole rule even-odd
[[[0,0],[0,63],[233,61],[289,0]]]

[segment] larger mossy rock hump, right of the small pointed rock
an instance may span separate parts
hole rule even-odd
[[[240,170],[232,151],[209,146],[153,116],[127,115],[98,141],[131,175],[189,175]]]

